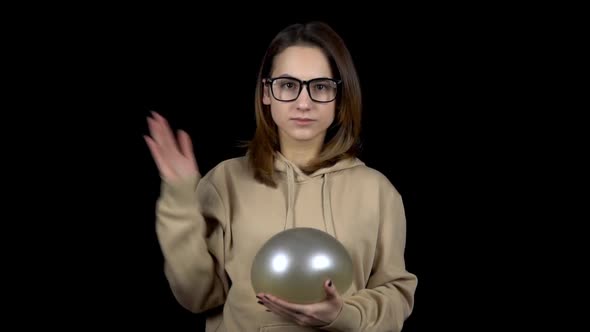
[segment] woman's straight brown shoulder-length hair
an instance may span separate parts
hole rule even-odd
[[[339,160],[355,157],[359,151],[361,127],[361,89],[352,57],[342,38],[323,22],[293,24],[280,31],[270,43],[258,72],[255,95],[256,131],[247,144],[254,177],[275,186],[274,158],[280,149],[277,126],[269,106],[262,103],[263,79],[268,78],[275,56],[290,46],[308,45],[323,50],[334,78],[342,80],[336,99],[336,116],[328,129],[318,157],[302,170],[308,174],[331,166]]]

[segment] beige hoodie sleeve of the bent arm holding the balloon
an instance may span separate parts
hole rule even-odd
[[[373,270],[365,289],[344,297],[326,331],[401,331],[414,305],[417,278],[405,269],[406,219],[401,196],[384,195]]]

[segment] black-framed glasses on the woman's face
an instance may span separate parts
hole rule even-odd
[[[294,77],[267,78],[265,84],[270,85],[272,96],[279,101],[293,101],[299,97],[303,86],[311,100],[318,103],[329,103],[336,99],[338,86],[342,80],[320,77],[309,81],[298,80]]]

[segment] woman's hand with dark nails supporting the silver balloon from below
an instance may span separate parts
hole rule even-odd
[[[301,326],[324,326],[332,323],[342,309],[342,297],[332,281],[324,282],[326,299],[313,304],[295,304],[277,298],[271,294],[256,295],[258,303],[266,306],[275,314],[295,321]]]

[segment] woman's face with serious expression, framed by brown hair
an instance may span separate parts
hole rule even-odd
[[[285,49],[275,57],[270,77],[281,79],[265,85],[262,101],[270,105],[281,141],[323,143],[326,131],[334,121],[336,101],[321,103],[311,97],[320,101],[333,99],[338,90],[336,84],[326,80],[314,81],[309,84],[310,97],[308,85],[289,80],[332,78],[328,58],[321,49],[306,46]],[[300,87],[301,93],[295,100],[277,100],[295,98]]]

